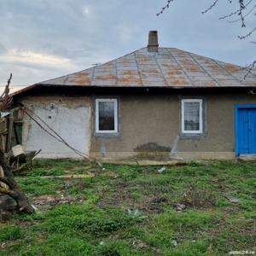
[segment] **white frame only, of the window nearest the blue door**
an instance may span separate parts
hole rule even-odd
[[[185,119],[184,119],[184,111],[185,111],[185,102],[199,102],[199,130],[197,131],[188,131],[185,130]],[[181,102],[181,130],[182,133],[203,133],[203,100],[202,99],[183,99]]]

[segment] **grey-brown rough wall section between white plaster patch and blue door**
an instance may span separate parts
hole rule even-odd
[[[206,135],[197,139],[178,137],[183,97],[189,95],[119,96],[120,137],[91,137],[90,154],[109,158],[234,158],[234,105],[256,103],[256,97],[247,93],[191,96],[205,102]]]

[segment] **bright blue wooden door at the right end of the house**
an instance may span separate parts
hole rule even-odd
[[[256,108],[237,108],[236,155],[256,154]]]

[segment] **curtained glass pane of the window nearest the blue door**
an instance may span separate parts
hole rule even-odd
[[[184,102],[184,130],[199,131],[200,102]]]

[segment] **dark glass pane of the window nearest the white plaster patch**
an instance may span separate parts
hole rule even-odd
[[[99,131],[114,130],[114,102],[99,102]]]

